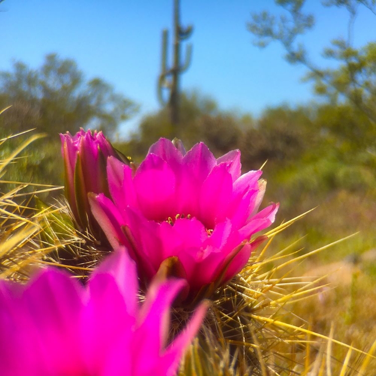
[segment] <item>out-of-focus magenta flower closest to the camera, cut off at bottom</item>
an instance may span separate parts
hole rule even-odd
[[[167,343],[170,307],[184,283],[154,282],[139,305],[126,250],[105,259],[86,287],[53,268],[27,285],[0,281],[0,373],[172,376],[206,312],[198,307]]]

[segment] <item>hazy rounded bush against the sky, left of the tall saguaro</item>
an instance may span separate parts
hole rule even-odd
[[[0,126],[17,133],[31,128],[56,136],[80,127],[114,132],[136,110],[135,104],[113,87],[94,78],[87,81],[77,64],[47,55],[38,69],[15,62],[0,72],[0,108],[12,105],[0,117]]]

